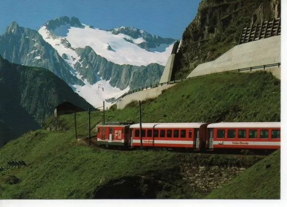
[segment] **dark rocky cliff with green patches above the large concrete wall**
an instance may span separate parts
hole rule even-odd
[[[202,0],[183,33],[176,79],[235,46],[243,27],[280,16],[281,0]]]

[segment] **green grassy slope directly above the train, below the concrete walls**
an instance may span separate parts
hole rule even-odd
[[[142,112],[143,122],[280,121],[280,81],[265,72],[197,78],[143,104]],[[139,122],[138,103],[107,115]]]

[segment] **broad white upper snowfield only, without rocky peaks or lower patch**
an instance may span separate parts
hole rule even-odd
[[[143,38],[133,39],[124,34],[114,35],[109,31],[90,28],[85,24],[82,25],[84,26],[83,28],[71,27],[69,24],[61,25],[60,28],[52,31],[49,31],[46,26],[42,26],[38,32],[61,56],[63,53],[68,56],[67,62],[69,62],[71,66],[79,61],[79,56],[73,48],[90,46],[98,55],[110,62],[120,65],[146,66],[150,63],[165,65],[173,47],[173,45],[164,44],[166,47],[164,52],[158,52],[156,50],[157,48],[152,49],[153,51],[146,51],[137,45],[144,42]],[[65,31],[67,32],[66,36],[61,36],[65,35]],[[63,43],[70,43],[71,47],[68,48]],[[159,47],[159,49],[161,49],[161,47]]]

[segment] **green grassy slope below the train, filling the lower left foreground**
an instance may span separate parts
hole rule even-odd
[[[0,166],[6,160],[23,159],[28,166],[7,169],[0,176],[1,199],[85,199],[97,186],[126,175],[142,175],[182,165],[251,166],[259,156],[204,155],[168,151],[120,151],[77,143],[72,131],[37,130],[13,140],[0,150]],[[16,185],[9,182],[20,179]],[[167,175],[171,176],[171,175]],[[168,192],[173,198],[200,198],[196,192]],[[166,195],[166,193],[165,193]]]

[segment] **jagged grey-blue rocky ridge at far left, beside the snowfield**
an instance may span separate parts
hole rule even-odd
[[[0,55],[13,63],[46,68],[66,83],[83,85],[73,68],[36,30],[23,28],[16,21],[0,36]]]

